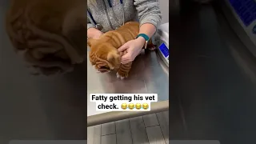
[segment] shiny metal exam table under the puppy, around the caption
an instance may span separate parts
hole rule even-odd
[[[115,72],[98,74],[87,57],[87,126],[169,110],[169,70],[154,51],[142,51],[134,60],[129,78],[120,80]],[[96,111],[90,94],[158,94],[158,102],[145,112]]]

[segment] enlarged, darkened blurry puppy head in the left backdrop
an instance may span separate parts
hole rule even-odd
[[[86,57],[86,1],[12,0],[6,30],[38,74],[65,73]]]

